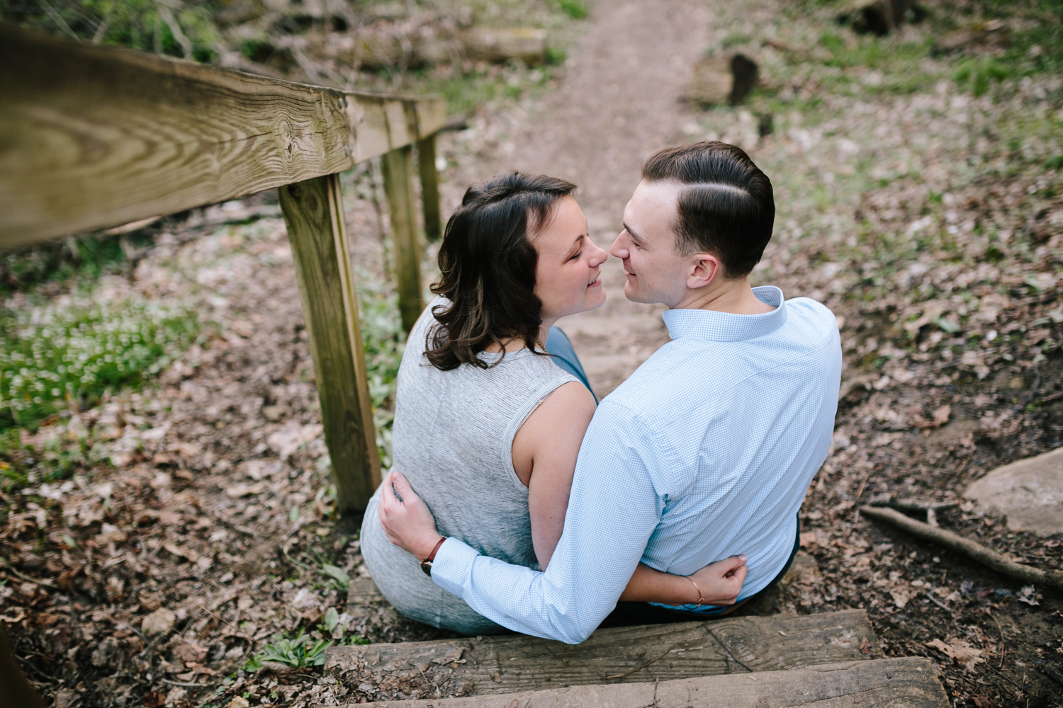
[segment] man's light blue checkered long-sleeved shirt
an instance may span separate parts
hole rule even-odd
[[[499,624],[569,643],[612,611],[640,560],[688,575],[745,553],[739,599],[763,589],[830,448],[842,351],[826,307],[754,292],[776,309],[664,313],[672,341],[591,420],[545,572],[449,538],[433,581]]]

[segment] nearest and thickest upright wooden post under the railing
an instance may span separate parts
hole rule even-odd
[[[321,421],[339,508],[361,511],[381,483],[381,459],[339,175],[287,185],[279,192],[310,335]]]

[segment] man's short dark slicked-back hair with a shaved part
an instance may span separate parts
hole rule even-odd
[[[675,182],[676,247],[684,256],[716,256],[724,278],[748,275],[772,238],[772,182],[742,149],[726,142],[665,148],[642,166],[646,182]]]

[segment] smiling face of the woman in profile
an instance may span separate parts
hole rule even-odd
[[[605,303],[601,265],[608,254],[587,236],[587,219],[576,201],[562,197],[545,227],[533,238],[538,254],[535,294],[542,300],[540,316],[557,320],[593,310]]]

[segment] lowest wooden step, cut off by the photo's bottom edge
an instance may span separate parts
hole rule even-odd
[[[764,708],[812,705],[815,708],[946,708],[949,704],[933,663],[921,657],[904,657],[756,674],[552,688],[504,697],[473,695],[360,705],[378,708]]]

